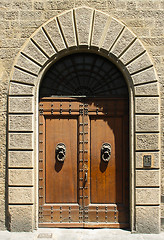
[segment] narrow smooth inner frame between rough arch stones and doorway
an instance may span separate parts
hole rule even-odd
[[[35,122],[35,129],[37,129],[37,131],[35,131],[35,140],[36,140],[36,144],[37,144],[37,151],[35,151],[35,156],[36,159],[39,159],[38,156],[38,152],[39,152],[39,88],[40,88],[40,84],[41,84],[41,80],[44,78],[45,73],[48,71],[48,69],[51,67],[51,65],[55,64],[56,61],[58,61],[59,59],[61,59],[62,57],[65,57],[67,55],[71,55],[74,53],[80,53],[80,52],[88,52],[88,49],[85,48],[80,48],[79,49],[72,49],[71,51],[65,53],[62,52],[58,58],[56,58],[54,61],[50,61],[47,64],[46,67],[46,71],[45,69],[43,69],[40,74],[39,74],[39,79],[38,79],[38,84],[37,87],[35,89],[35,119],[37,120]],[[113,62],[118,69],[122,72],[124,79],[127,83],[127,87],[129,90],[129,212],[130,212],[130,229],[131,232],[136,232],[136,219],[135,219],[135,215],[136,215],[136,211],[135,211],[135,105],[134,105],[134,86],[132,83],[132,78],[129,75],[129,72],[127,71],[127,69],[124,67],[124,65],[121,62],[117,62],[117,58],[115,56],[106,56],[106,54],[104,52],[97,52],[95,49],[89,49],[90,53],[95,53],[98,54],[100,56],[103,56],[105,58],[107,58],[109,61]],[[122,71],[124,70],[124,71]],[[35,169],[36,169],[36,175],[38,174],[39,168],[38,168],[38,164],[34,163],[35,165]],[[36,226],[39,225],[38,223],[38,211],[39,211],[39,204],[38,204],[38,185],[39,185],[39,181],[38,178],[36,179],[36,184],[35,184],[35,192],[36,192],[36,209],[35,209],[35,217],[36,217]]]

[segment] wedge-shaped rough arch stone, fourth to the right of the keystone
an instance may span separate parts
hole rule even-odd
[[[136,40],[121,56],[120,60],[124,65],[136,58],[139,54],[144,52],[144,47],[139,40]]]

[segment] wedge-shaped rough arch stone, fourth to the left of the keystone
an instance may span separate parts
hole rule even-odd
[[[40,65],[44,65],[48,60],[45,54],[43,54],[40,49],[31,41],[28,42],[22,52]]]

